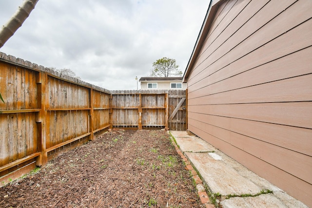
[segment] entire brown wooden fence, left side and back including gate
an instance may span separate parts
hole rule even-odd
[[[108,91],[3,53],[0,93],[0,187],[108,128],[186,130],[185,91]]]

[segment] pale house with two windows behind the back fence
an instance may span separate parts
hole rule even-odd
[[[185,90],[187,84],[181,77],[141,77],[141,90]]]

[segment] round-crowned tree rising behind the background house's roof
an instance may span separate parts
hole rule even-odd
[[[182,76],[182,72],[178,68],[179,65],[176,65],[176,59],[163,57],[153,63],[153,69],[151,70],[149,76]]]

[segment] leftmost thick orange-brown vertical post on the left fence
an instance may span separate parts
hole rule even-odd
[[[40,112],[37,113],[37,128],[38,128],[38,136],[37,136],[37,151],[41,152],[41,154],[36,159],[36,165],[42,166],[48,162],[48,154],[46,151],[46,80],[47,74],[38,72],[36,74],[36,83],[38,87],[38,108]]]

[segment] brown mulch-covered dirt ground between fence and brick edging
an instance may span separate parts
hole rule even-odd
[[[114,131],[0,188],[1,208],[199,208],[165,131]]]

